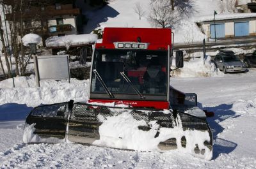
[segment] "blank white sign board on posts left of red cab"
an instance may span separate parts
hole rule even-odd
[[[37,56],[39,80],[70,80],[68,55]]]

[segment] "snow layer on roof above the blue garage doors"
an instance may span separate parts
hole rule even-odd
[[[228,19],[239,19],[239,18],[256,18],[256,13],[221,13],[215,15],[215,20],[228,20]],[[205,15],[198,17],[196,22],[207,22],[213,21],[214,15]]]

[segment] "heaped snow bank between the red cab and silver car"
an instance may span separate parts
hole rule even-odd
[[[198,53],[199,55],[202,53]],[[197,54],[197,55],[198,55]],[[175,61],[173,61],[175,62]],[[173,67],[174,68],[174,67]],[[172,77],[223,77],[224,74],[216,69],[211,57],[207,56],[204,60],[202,57],[191,59],[189,62],[184,61],[184,67],[171,71]]]

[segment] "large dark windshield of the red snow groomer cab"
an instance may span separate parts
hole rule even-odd
[[[166,95],[167,52],[152,50],[95,50],[93,70],[97,70],[111,93]],[[125,75],[121,75],[124,72]],[[124,78],[127,77],[127,79]],[[131,80],[132,84],[127,82]],[[106,93],[92,74],[92,92]]]

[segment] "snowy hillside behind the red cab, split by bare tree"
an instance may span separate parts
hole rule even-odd
[[[136,3],[140,3],[145,15],[140,18],[134,12]],[[184,43],[188,34],[193,34],[194,41],[202,41],[205,35],[196,26],[195,20],[202,15],[211,15],[214,10],[219,11],[220,0],[193,0],[193,9],[188,16],[180,20],[179,25],[173,29],[175,32],[175,43]],[[104,27],[153,27],[148,21],[150,13],[150,0],[111,0],[107,6],[100,10],[87,11],[83,14],[90,20],[84,26],[84,32],[90,33],[94,29]]]

